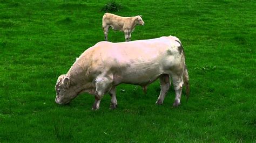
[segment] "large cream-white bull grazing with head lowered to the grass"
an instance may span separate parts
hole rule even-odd
[[[116,86],[121,83],[146,87],[160,79],[161,91],[156,104],[163,104],[172,78],[180,105],[185,83],[189,94],[188,73],[181,42],[176,37],[160,37],[131,42],[98,42],[87,49],[73,63],[68,73],[60,75],[56,84],[56,103],[69,103],[77,95],[87,92],[95,95],[93,110],[99,109],[100,99],[109,93],[111,108],[117,106]]]

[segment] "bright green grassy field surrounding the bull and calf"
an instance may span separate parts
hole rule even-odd
[[[154,103],[159,81],[144,95],[117,88],[55,103],[55,84],[85,49],[104,40],[106,1],[0,0],[0,142],[256,142],[254,1],[116,1],[121,16],[143,15],[132,40],[175,35],[186,53],[191,96],[172,108],[171,87]],[[125,41],[122,32],[109,33]],[[123,92],[125,90],[125,92]]]

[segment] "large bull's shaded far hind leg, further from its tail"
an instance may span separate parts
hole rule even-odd
[[[160,84],[161,84],[161,91],[160,91],[160,95],[157,99],[156,104],[160,105],[160,104],[164,103],[165,95],[168,92],[171,83],[170,83],[169,75],[167,75],[167,74],[160,75],[159,80],[160,80]]]

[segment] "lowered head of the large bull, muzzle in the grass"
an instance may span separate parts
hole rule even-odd
[[[70,78],[66,75],[60,75],[55,85],[57,104],[67,104],[76,97],[76,93],[70,89]]]

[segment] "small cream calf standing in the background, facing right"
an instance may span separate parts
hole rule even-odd
[[[111,13],[105,13],[102,18],[105,41],[107,41],[107,34],[109,33],[110,27],[112,27],[113,30],[123,31],[125,41],[131,41],[131,33],[136,25],[144,25],[142,16],[120,17]]]

